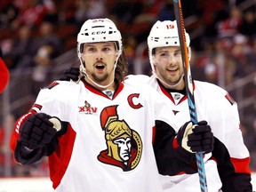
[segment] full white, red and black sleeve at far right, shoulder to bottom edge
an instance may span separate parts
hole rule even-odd
[[[240,130],[236,101],[221,88],[213,87],[213,90],[207,113],[217,138],[212,155],[217,160],[222,190],[252,191],[250,155]]]

